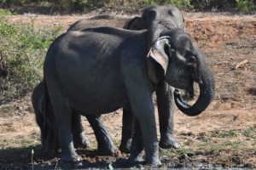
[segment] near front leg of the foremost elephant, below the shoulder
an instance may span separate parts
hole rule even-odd
[[[132,90],[132,89],[131,89]],[[149,91],[149,92],[148,92]],[[145,146],[146,163],[160,165],[159,144],[157,141],[156,124],[154,117],[154,103],[152,99],[152,91],[140,89],[139,92],[130,94],[130,104],[132,113],[134,114],[138,125],[141,129],[143,144]],[[137,142],[137,135],[134,135],[135,141],[131,144],[130,161],[137,161],[137,156],[141,152],[142,146]],[[134,144],[139,144],[138,146]],[[135,149],[134,149],[135,148]]]

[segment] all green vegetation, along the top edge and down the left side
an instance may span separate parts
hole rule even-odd
[[[234,7],[247,14],[253,14],[256,8],[253,0],[2,0],[0,1],[1,98],[8,96],[12,99],[25,96],[42,80],[44,56],[49,44],[61,31],[60,27],[54,27],[49,31],[35,31],[33,23],[11,25],[6,16],[15,13],[1,7],[36,5],[40,8],[48,5],[51,8],[64,8],[78,12],[84,11],[84,8],[132,8],[135,6],[138,8],[153,3],[172,3],[188,10]]]

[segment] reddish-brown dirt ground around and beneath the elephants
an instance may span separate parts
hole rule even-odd
[[[32,22],[35,29],[63,26],[96,14],[73,16],[15,15],[13,24]],[[88,25],[122,27],[131,16],[119,19],[86,20]],[[182,144],[178,150],[160,150],[162,168],[256,168],[256,17],[233,14],[184,13],[186,31],[206,54],[216,82],[216,96],[200,116],[175,112],[175,137]],[[0,167],[2,169],[68,168],[148,168],[143,162],[126,165],[128,155],[96,156],[96,139],[83,121],[91,147],[79,149],[83,161],[62,165],[59,154],[42,152],[39,128],[30,99],[15,101],[9,114],[0,114]],[[6,105],[1,105],[1,109]],[[104,123],[118,147],[121,139],[122,111],[103,115]],[[156,114],[157,119],[157,114]],[[158,126],[158,125],[157,125]],[[69,166],[69,167],[68,167]]]

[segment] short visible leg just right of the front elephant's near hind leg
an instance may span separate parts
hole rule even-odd
[[[72,133],[73,133],[73,144],[75,148],[88,147],[89,139],[86,138],[84,133],[84,127],[82,125],[81,116],[79,114],[72,115]]]

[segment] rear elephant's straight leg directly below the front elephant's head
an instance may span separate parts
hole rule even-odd
[[[160,122],[160,147],[179,148],[180,144],[173,133],[173,97],[172,87],[166,82],[160,82],[156,88],[157,106]]]

